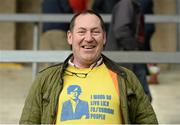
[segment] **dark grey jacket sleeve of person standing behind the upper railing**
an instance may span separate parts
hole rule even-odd
[[[112,31],[117,44],[124,50],[137,49],[133,31],[134,9],[131,0],[121,0],[113,9]]]

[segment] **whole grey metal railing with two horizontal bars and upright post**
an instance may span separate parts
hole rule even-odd
[[[39,24],[42,22],[69,22],[72,14],[0,14],[0,22],[33,23],[33,49],[32,51],[0,51],[0,62],[31,62],[33,77],[37,73],[38,62],[61,62],[70,53],[68,51],[38,51]],[[111,15],[102,17],[110,22]],[[180,23],[177,15],[146,15],[146,23]],[[179,42],[179,41],[178,41]],[[180,53],[157,52],[104,52],[117,62],[134,63],[180,63]],[[27,59],[28,58],[28,59]]]

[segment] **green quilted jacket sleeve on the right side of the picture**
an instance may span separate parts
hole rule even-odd
[[[129,117],[133,124],[158,124],[153,107],[145,94],[139,80],[129,72],[128,74],[128,108]]]

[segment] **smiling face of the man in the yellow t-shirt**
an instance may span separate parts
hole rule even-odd
[[[106,42],[106,34],[96,15],[79,15],[73,30],[67,35],[68,43],[72,45],[75,65],[86,68],[100,57]]]

